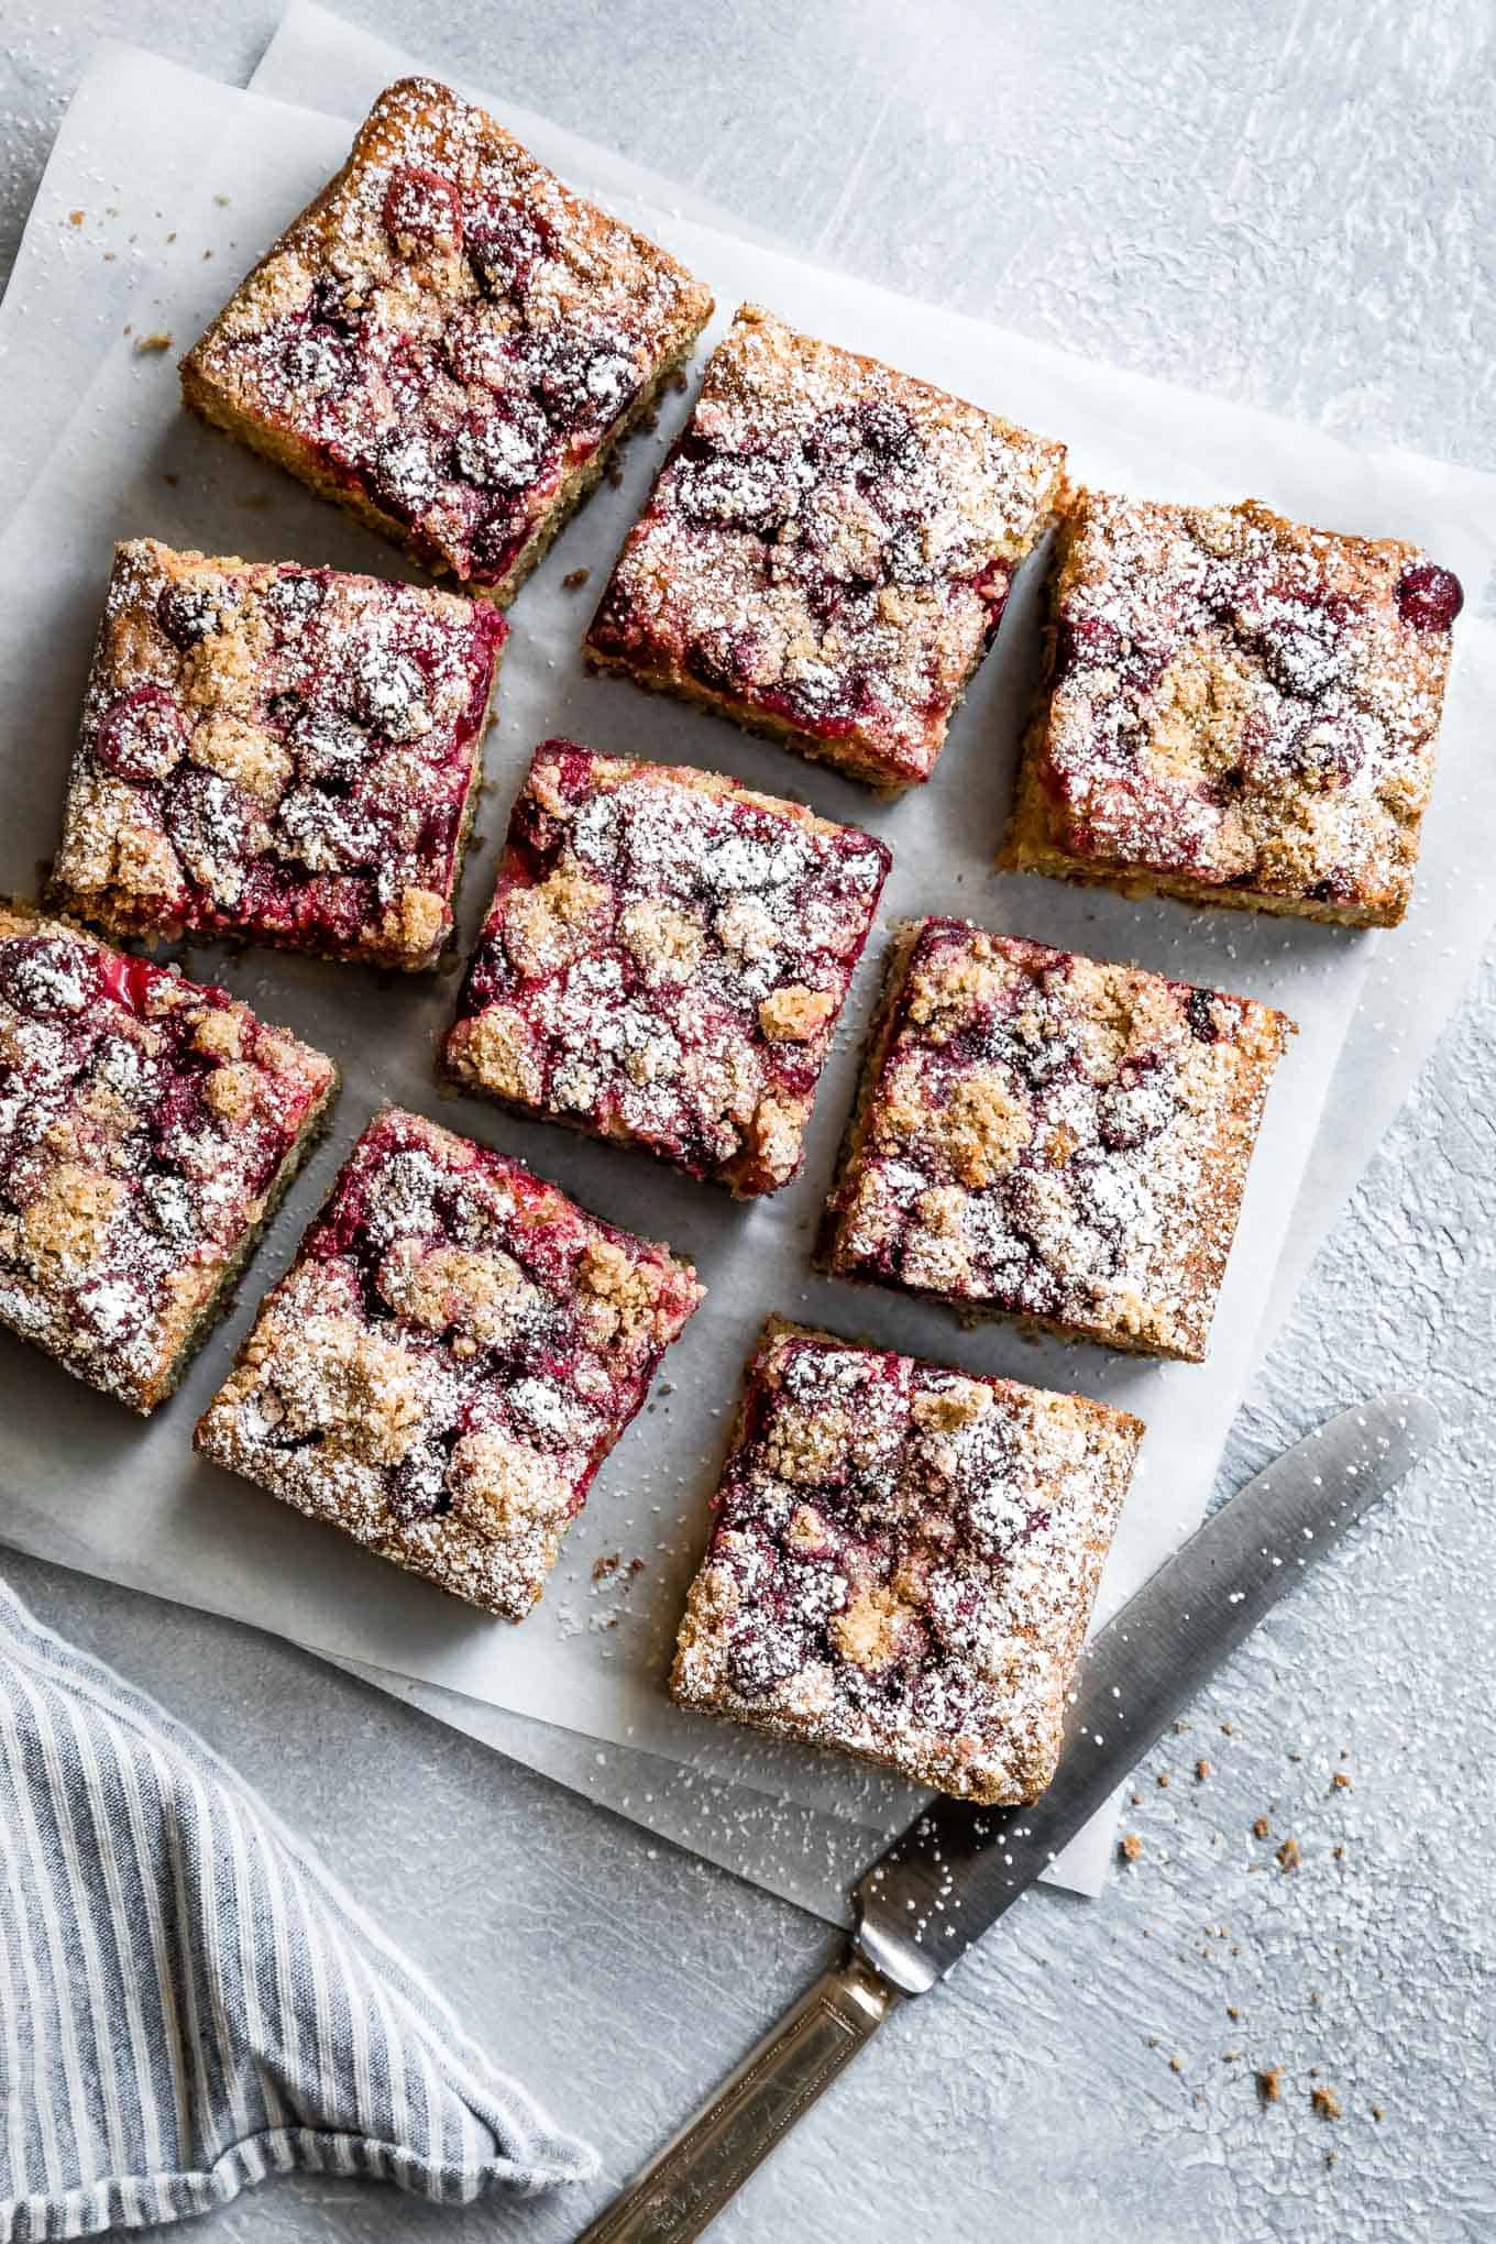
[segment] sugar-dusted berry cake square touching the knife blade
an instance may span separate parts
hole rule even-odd
[[[769,1319],[671,1694],[960,1800],[1036,1800],[1142,1434]]]

